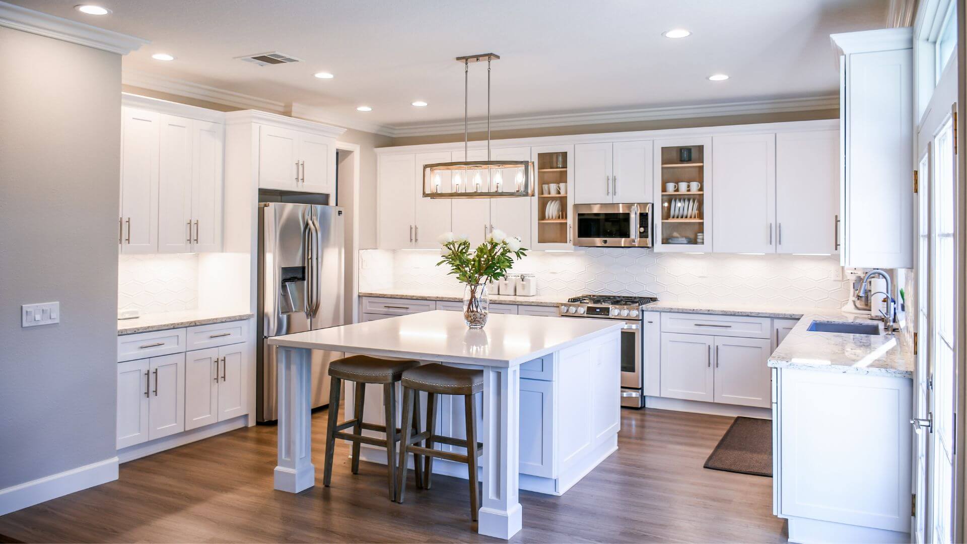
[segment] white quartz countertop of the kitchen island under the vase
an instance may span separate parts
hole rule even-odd
[[[277,336],[269,344],[513,367],[617,331],[623,324],[614,319],[490,314],[486,326],[474,330],[461,313],[434,310]]]

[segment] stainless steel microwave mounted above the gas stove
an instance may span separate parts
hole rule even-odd
[[[575,204],[571,239],[592,248],[652,247],[652,204]]]

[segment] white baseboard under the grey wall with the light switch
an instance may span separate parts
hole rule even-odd
[[[112,457],[0,489],[0,516],[116,479],[118,458]]]

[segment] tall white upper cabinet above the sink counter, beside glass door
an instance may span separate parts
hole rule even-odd
[[[840,261],[913,267],[913,53],[907,28],[834,34],[841,52]]]

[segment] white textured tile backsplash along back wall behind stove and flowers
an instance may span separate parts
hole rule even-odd
[[[363,250],[360,290],[458,290],[439,252]],[[659,300],[838,309],[849,298],[838,257],[662,254],[588,248],[532,252],[513,272],[538,276],[538,294],[653,294]]]

